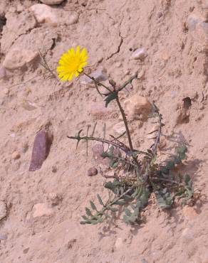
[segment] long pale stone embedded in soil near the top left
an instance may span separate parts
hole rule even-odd
[[[34,4],[30,10],[38,23],[48,23],[51,26],[72,25],[77,23],[79,18],[76,12],[68,14],[66,11],[46,6],[46,4]]]

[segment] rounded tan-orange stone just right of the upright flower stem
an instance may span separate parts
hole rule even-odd
[[[151,112],[152,105],[146,97],[133,95],[124,101],[124,109],[130,119],[141,119],[145,121]]]

